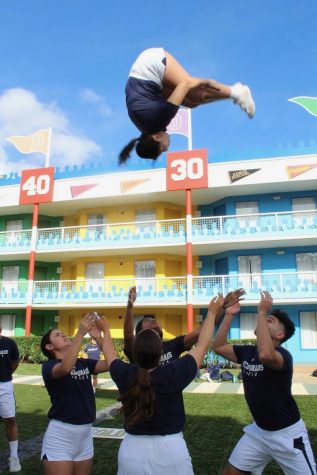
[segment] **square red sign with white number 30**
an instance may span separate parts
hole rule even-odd
[[[167,191],[208,187],[208,151],[188,150],[167,155]]]

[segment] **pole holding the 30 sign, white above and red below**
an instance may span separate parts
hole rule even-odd
[[[193,149],[192,137],[192,114],[191,109],[187,109],[188,121],[188,150]],[[194,308],[193,308],[193,244],[192,244],[192,190],[186,190],[186,283],[187,283],[187,333],[194,329]]]

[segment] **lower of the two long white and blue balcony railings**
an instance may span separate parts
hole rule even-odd
[[[98,304],[125,305],[130,287],[137,286],[137,303],[184,305],[186,277],[105,278],[96,280],[35,281],[33,305]],[[243,287],[245,300],[258,300],[260,290],[268,290],[278,300],[317,301],[317,272],[230,274],[193,277],[192,301],[206,304],[219,292],[226,294]],[[26,304],[27,281],[0,282],[0,303]]]

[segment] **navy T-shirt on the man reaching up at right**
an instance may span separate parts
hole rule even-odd
[[[283,357],[283,367],[274,370],[259,359],[255,345],[233,345],[241,364],[245,398],[255,423],[263,430],[276,431],[300,420],[297,404],[291,393],[292,355],[282,347],[276,350]]]

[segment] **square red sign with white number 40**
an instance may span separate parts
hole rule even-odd
[[[54,167],[23,170],[20,204],[50,203],[53,200]]]

